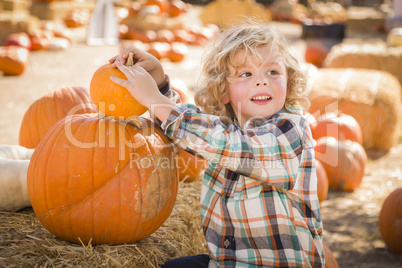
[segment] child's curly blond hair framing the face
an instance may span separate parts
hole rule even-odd
[[[263,45],[275,46],[283,56],[287,75],[287,97],[284,108],[299,107],[306,111],[309,101],[305,96],[306,75],[288,48],[287,40],[272,26],[247,22],[223,31],[206,51],[203,60],[203,86],[195,93],[195,103],[205,112],[234,119],[230,104],[220,102],[227,94],[227,79],[231,77],[229,65],[236,69],[235,56],[239,51],[259,57],[256,49]]]

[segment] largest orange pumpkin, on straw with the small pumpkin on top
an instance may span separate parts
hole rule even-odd
[[[142,129],[99,114],[57,122],[32,156],[28,194],[41,224],[72,243],[145,238],[170,215],[178,191],[175,152],[151,121]]]

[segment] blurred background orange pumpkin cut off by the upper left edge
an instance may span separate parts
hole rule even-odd
[[[0,72],[20,75],[28,64],[29,50],[19,46],[0,47]]]

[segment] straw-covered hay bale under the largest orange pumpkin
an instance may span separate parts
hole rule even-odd
[[[125,245],[77,245],[44,229],[32,208],[0,212],[0,267],[160,267],[167,260],[207,253],[200,219],[201,178],[181,182],[166,222]]]

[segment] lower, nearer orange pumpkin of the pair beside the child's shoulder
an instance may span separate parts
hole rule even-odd
[[[353,191],[362,182],[367,155],[354,141],[322,137],[314,147],[315,157],[321,161],[328,176],[329,188]]]

